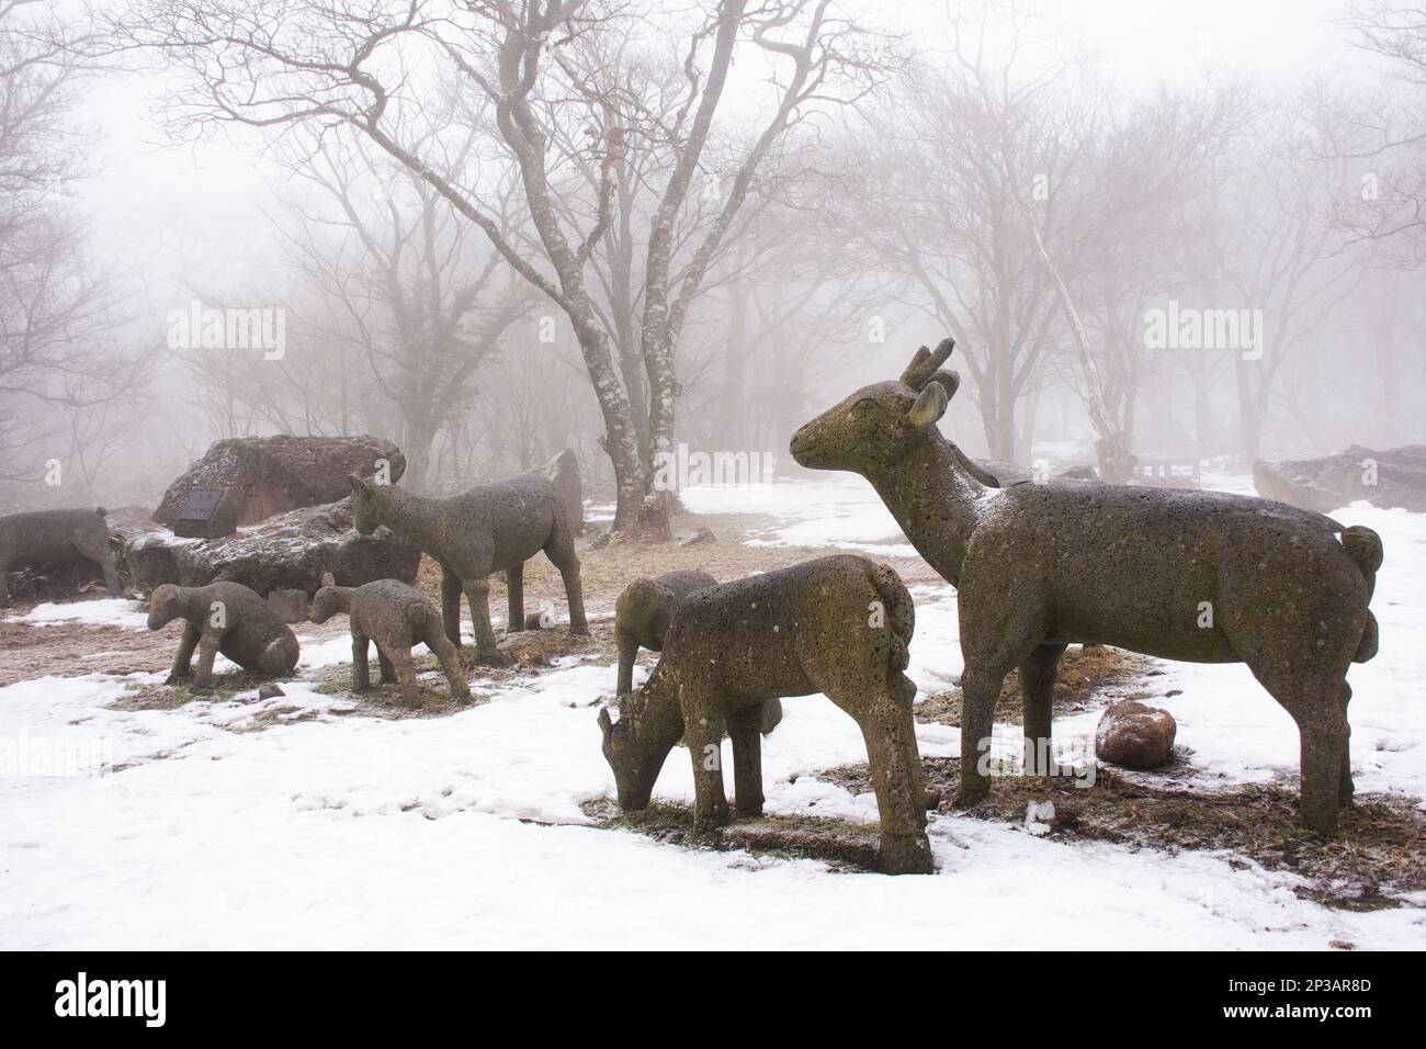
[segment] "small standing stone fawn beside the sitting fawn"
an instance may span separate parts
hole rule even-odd
[[[309,615],[312,622],[321,624],[338,612],[345,612],[351,622],[352,688],[358,692],[371,688],[366,659],[369,645],[375,641],[381,684],[399,684],[401,705],[421,706],[411,649],[424,642],[441,662],[446,684],[451,686],[451,698],[458,702],[471,699],[471,685],[461,672],[455,645],[445,635],[441,612],[415,587],[408,587],[399,579],[338,587],[332,574],[327,572],[322,575],[322,588],[312,598]]]

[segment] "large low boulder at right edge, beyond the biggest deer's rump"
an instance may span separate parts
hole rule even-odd
[[[1373,507],[1426,512],[1426,444],[1373,451],[1353,444],[1319,460],[1252,467],[1252,482],[1265,500],[1319,514],[1366,500]]]

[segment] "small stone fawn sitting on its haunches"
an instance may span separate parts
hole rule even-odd
[[[285,678],[297,669],[301,647],[292,628],[241,582],[207,587],[165,582],[148,599],[148,629],[161,629],[174,619],[184,621],[183,639],[165,685],[193,676],[190,691],[210,688],[218,652],[250,674]],[[198,649],[197,672],[190,667],[194,649]]]

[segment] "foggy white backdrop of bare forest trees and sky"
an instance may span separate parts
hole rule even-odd
[[[1419,4],[0,0],[4,512],[371,434],[619,524],[945,335],[977,458],[1393,448],[1423,263]]]

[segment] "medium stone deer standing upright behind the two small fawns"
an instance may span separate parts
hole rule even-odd
[[[545,477],[520,474],[461,495],[431,500],[376,478],[351,475],[354,527],[371,535],[386,525],[441,565],[441,615],[446,637],[461,644],[461,594],[471,604],[476,658],[508,664],[491,629],[492,572],[505,572],[509,629],[525,625],[525,562],[539,551],[559,569],[569,599],[569,628],[586,634],[579,558],[566,501]]]

